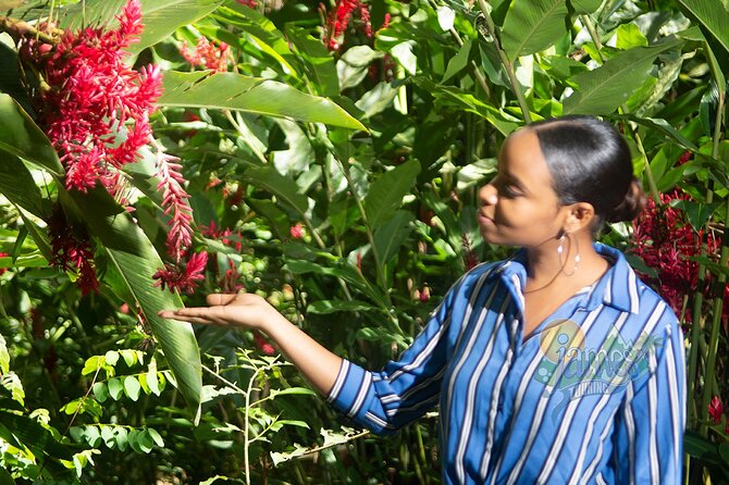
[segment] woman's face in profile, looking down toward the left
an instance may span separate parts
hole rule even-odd
[[[534,248],[555,239],[567,211],[552,185],[534,132],[511,134],[502,146],[496,177],[479,191],[478,222],[484,240]]]

